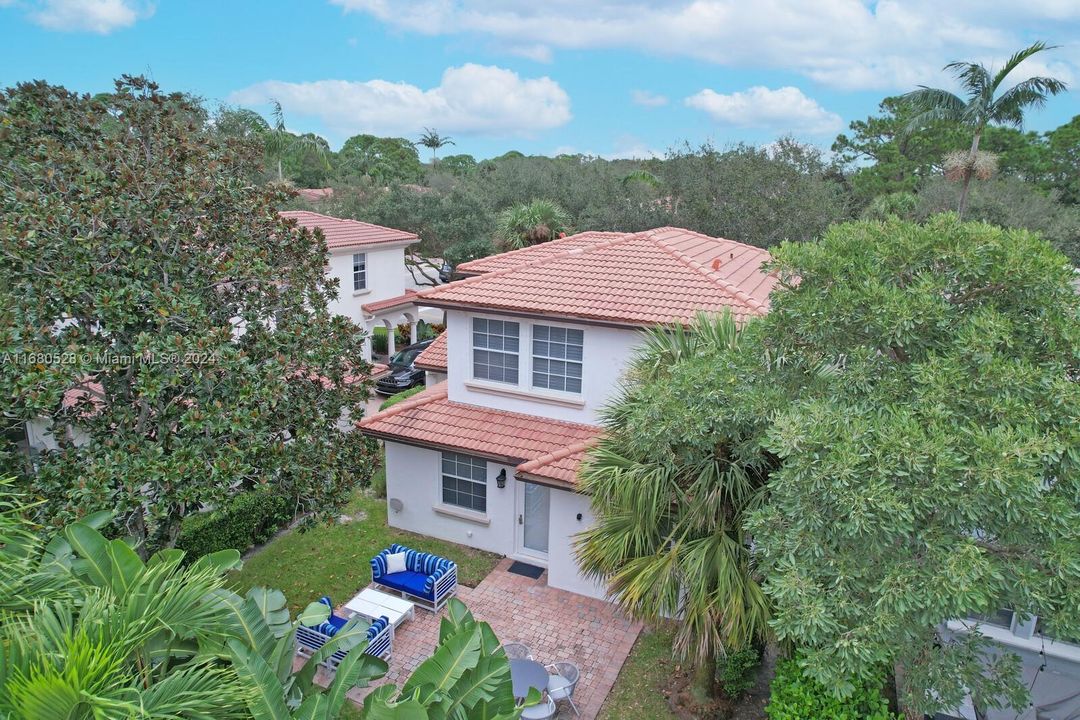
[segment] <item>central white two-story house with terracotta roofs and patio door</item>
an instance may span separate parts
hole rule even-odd
[[[447,329],[417,361],[445,380],[359,423],[384,440],[392,526],[548,569],[593,597],[573,535],[592,522],[577,470],[640,329],[768,308],[768,253],[677,228],[584,232],[464,263],[415,301]]]

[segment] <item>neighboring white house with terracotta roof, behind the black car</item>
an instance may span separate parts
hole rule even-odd
[[[386,327],[391,355],[396,325],[409,323],[416,342],[416,291],[405,286],[405,249],[420,242],[416,234],[309,210],[282,210],[281,216],[323,231],[329,250],[326,272],[338,281],[338,298],[330,303],[330,312],[349,317],[368,332]],[[370,339],[364,354],[372,358]]]

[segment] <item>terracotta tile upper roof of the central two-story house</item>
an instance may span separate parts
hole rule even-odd
[[[725,309],[746,320],[768,311],[777,283],[761,271],[769,259],[743,243],[658,228],[534,256],[424,290],[417,302],[629,325],[686,324]]]

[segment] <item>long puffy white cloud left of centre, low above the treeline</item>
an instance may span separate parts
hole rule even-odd
[[[230,103],[260,105],[275,98],[286,116],[310,116],[343,135],[368,132],[529,135],[570,120],[570,98],[551,78],[519,77],[485,65],[447,68],[442,82],[422,90],[387,80],[269,80],[237,91]]]

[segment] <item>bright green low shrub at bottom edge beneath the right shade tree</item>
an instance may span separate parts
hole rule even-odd
[[[777,663],[777,677],[772,679],[769,704],[765,714],[769,720],[902,720],[889,711],[889,701],[881,695],[881,682],[861,682],[847,697],[837,697],[813,678],[802,674],[797,660]]]

